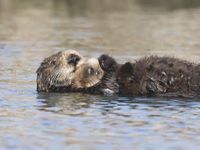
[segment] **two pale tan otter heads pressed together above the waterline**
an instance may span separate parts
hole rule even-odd
[[[37,91],[84,91],[103,75],[97,59],[85,58],[74,50],[62,51],[44,59],[37,69]]]

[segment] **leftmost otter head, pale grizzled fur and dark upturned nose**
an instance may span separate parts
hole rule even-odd
[[[71,85],[82,58],[77,51],[67,50],[44,59],[37,69],[37,90],[48,92],[56,87]]]

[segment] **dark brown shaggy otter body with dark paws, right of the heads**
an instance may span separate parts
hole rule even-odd
[[[107,82],[119,85],[122,95],[195,97],[200,96],[200,65],[171,57],[150,56],[135,63],[117,64],[102,55],[99,63]]]

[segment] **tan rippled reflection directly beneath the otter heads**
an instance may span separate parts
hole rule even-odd
[[[81,93],[38,93],[37,97],[37,99],[41,99],[44,103],[42,105],[43,110],[48,111],[49,108],[58,108],[59,110],[56,112],[67,113],[68,115],[78,109],[90,107],[92,103],[100,100],[99,98],[98,96]]]

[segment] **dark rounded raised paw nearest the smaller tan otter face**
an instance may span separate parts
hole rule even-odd
[[[98,60],[104,71],[115,71],[118,68],[118,63],[109,55],[103,54],[98,58]]]

